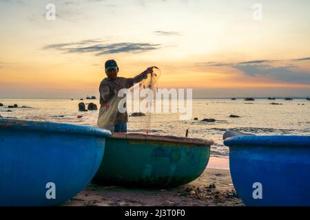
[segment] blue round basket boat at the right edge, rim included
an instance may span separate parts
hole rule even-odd
[[[240,136],[224,144],[232,181],[247,206],[310,206],[310,136]]]

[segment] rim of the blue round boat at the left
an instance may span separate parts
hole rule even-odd
[[[30,120],[0,119],[1,129],[14,129],[26,131],[48,131],[54,133],[73,133],[92,135],[99,137],[110,137],[111,132],[105,129],[99,129],[94,126],[81,126],[75,124],[63,124],[56,122],[39,122]]]

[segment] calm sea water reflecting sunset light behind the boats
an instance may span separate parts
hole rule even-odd
[[[70,99],[0,99],[3,118],[62,122],[96,126],[99,111],[80,112],[79,102],[99,100]],[[271,102],[282,103],[278,105]],[[17,109],[8,105],[18,104]],[[29,108],[21,108],[21,107]],[[180,121],[178,113],[152,113],[146,117],[129,117],[128,131],[143,132],[146,128],[156,135],[176,135],[214,140],[211,155],[227,157],[229,148],[223,146],[222,135],[227,129],[236,129],[256,135],[310,135],[309,100],[244,100],[195,99],[193,100],[192,119]],[[11,111],[8,111],[11,110]],[[229,118],[239,115],[240,118]],[[77,118],[83,116],[82,118]],[[194,120],[198,118],[198,120]],[[214,118],[216,122],[202,122],[204,118]]]

